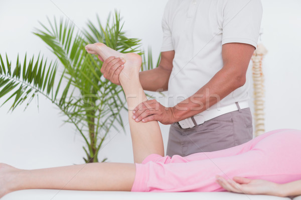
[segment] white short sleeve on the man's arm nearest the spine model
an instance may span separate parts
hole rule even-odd
[[[228,0],[223,9],[222,44],[239,42],[256,48],[261,18],[260,0]]]

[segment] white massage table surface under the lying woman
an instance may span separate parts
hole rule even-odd
[[[9,193],[1,200],[290,200],[288,197],[247,195],[231,192],[128,192],[75,191],[56,189],[28,189]],[[301,200],[301,196],[293,198]]]

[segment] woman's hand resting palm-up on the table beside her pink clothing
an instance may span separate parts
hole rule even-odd
[[[239,176],[234,176],[233,180],[226,180],[224,177],[217,175],[217,183],[224,189],[236,193],[245,194],[267,194],[282,196],[281,190],[278,189],[279,184],[260,179],[249,179]]]

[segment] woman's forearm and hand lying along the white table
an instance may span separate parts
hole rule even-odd
[[[249,179],[238,176],[226,180],[222,176],[217,176],[216,181],[224,189],[236,193],[267,194],[274,196],[301,195],[301,180],[278,184],[267,180]]]

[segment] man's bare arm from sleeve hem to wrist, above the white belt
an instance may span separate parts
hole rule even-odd
[[[254,46],[245,43],[226,43],[222,47],[224,66],[194,95],[174,108],[175,119],[180,121],[198,114],[246,82],[246,72]]]

